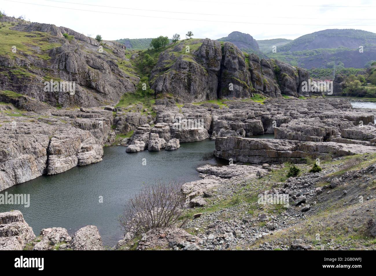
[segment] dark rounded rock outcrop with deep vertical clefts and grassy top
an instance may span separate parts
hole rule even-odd
[[[302,90],[308,79],[305,69],[245,55],[231,42],[206,38],[183,41],[162,52],[150,82],[157,94],[172,93],[178,102],[186,103],[249,98],[254,92],[271,97],[309,96],[310,92]]]

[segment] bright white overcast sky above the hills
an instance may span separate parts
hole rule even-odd
[[[174,33],[185,38],[188,30],[194,38],[218,39],[239,31],[257,40],[295,39],[325,29],[376,33],[376,2],[372,0],[0,0],[0,10],[9,16],[25,15],[26,20],[68,27],[85,35],[100,34],[105,40],[159,35],[171,38]],[[312,19],[302,19],[307,17]]]

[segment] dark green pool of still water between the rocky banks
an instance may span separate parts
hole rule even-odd
[[[255,136],[273,138],[273,134]],[[36,235],[43,228],[64,227],[74,234],[86,225],[98,227],[103,244],[114,246],[123,237],[117,218],[124,203],[143,183],[200,179],[196,168],[228,164],[213,157],[215,141],[181,143],[174,151],[125,152],[123,146],[104,148],[103,161],[74,167],[57,175],[40,176],[1,193],[30,194],[30,207],[0,205],[0,213],[20,210]],[[146,165],[143,165],[145,158]],[[103,203],[99,202],[103,196]]]

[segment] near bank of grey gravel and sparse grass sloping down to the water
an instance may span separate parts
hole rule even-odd
[[[290,178],[285,164],[200,167],[202,180],[182,186],[184,229],[128,233],[117,249],[376,249],[376,154],[320,166],[310,173],[312,163],[297,165],[301,174]],[[286,201],[273,202],[276,195]]]

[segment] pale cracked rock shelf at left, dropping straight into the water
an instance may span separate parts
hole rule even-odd
[[[0,115],[0,190],[43,174],[102,161],[111,142],[112,113],[92,109]]]

